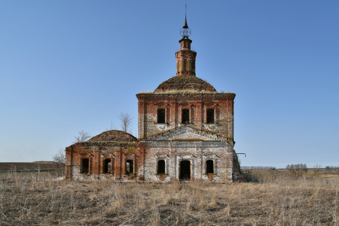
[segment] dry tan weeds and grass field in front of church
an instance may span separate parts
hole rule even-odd
[[[6,173],[0,225],[339,225],[338,182],[120,184]]]

